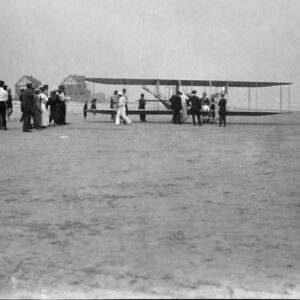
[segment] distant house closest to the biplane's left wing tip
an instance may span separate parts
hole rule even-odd
[[[71,98],[71,101],[85,101],[91,99],[91,91],[87,89],[87,84],[84,81],[85,76],[69,75],[65,78],[61,85],[65,86],[66,96]]]

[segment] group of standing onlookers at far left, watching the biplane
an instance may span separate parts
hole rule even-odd
[[[23,122],[23,132],[32,132],[32,129],[42,130],[48,126],[65,125],[66,123],[66,94],[65,87],[48,94],[48,86],[33,88],[27,83],[26,89],[20,90],[20,109]],[[7,89],[4,81],[0,81],[0,124],[1,129],[7,130],[6,118],[9,120],[13,112],[11,90]]]

